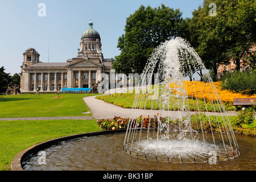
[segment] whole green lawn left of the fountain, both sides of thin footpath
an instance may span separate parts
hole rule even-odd
[[[0,118],[84,116],[82,98],[96,94],[22,94],[0,97]],[[49,139],[102,130],[96,120],[0,121],[0,170],[20,151]]]

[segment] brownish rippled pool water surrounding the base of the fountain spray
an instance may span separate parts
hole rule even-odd
[[[166,170],[256,170],[256,138],[236,135],[241,156],[229,161],[208,163],[166,163],[137,159],[122,150],[125,133],[106,134],[60,142],[46,148],[46,164],[39,164],[42,156],[31,154],[23,162],[27,171],[166,171]]]

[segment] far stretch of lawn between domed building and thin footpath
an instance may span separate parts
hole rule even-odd
[[[83,97],[97,94],[22,94],[1,96],[0,118],[85,116],[89,107]]]

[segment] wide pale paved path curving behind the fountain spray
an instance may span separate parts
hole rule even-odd
[[[113,104],[109,104],[102,100],[95,98],[96,96],[85,97],[84,101],[86,105],[90,108],[93,118],[95,119],[112,119],[115,116],[120,116],[122,118],[130,118],[131,115],[139,117],[140,115],[150,115],[153,117],[159,110],[139,110],[139,109],[125,109]],[[133,112],[133,113],[131,113]],[[195,112],[192,112],[195,113]],[[209,115],[220,115],[221,113],[210,113]],[[236,112],[229,112],[228,115],[237,115]],[[181,111],[163,111],[162,117],[172,116],[173,118],[180,118]]]

